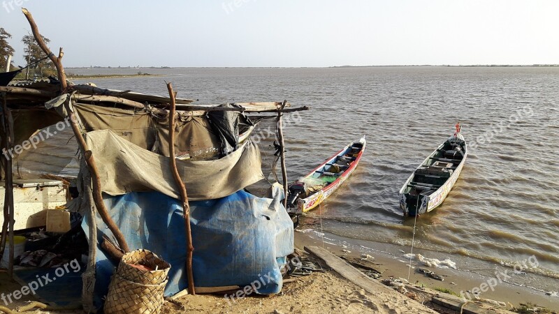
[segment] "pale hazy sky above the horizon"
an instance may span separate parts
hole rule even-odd
[[[0,2],[17,65],[21,6],[66,67],[559,63],[556,0]]]

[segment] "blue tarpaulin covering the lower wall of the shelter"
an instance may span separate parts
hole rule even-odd
[[[187,287],[186,239],[182,205],[159,192],[103,195],[112,220],[131,250],[145,248],[171,264],[165,295]],[[282,191],[273,199],[240,190],[217,200],[189,202],[194,245],[192,268],[196,287],[259,284],[260,294],[282,289],[280,267],[293,252],[293,223],[282,206]],[[98,239],[106,234],[117,243],[101,217],[96,217]],[[87,219],[82,224],[88,229]],[[88,234],[88,232],[85,232]],[[96,255],[95,295],[98,303],[107,294],[115,271],[100,245]]]

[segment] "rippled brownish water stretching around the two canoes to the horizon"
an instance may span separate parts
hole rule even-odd
[[[173,82],[180,97],[201,103],[287,99],[293,105],[310,106],[311,111],[300,114],[300,123],[285,130],[290,181],[366,135],[368,149],[361,164],[322,209],[325,231],[354,239],[411,244],[414,220],[402,217],[398,190],[460,121],[470,144],[469,158],[442,206],[417,219],[416,247],[504,265],[535,255],[539,267],[530,271],[558,278],[559,68],[111,69],[110,73],[138,70],[165,76],[96,83],[166,95],[166,80]],[[268,154],[263,156],[265,175],[270,168]]]

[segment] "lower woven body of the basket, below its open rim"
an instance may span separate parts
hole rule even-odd
[[[164,303],[167,280],[159,285],[128,281],[118,274],[112,276],[103,311],[106,314],[157,314]]]

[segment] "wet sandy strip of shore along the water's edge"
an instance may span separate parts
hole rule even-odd
[[[366,241],[368,245],[363,245],[365,241],[339,237],[334,234],[328,234],[327,232],[324,232],[324,236],[320,237],[320,232],[304,231],[305,229],[295,232],[296,248],[302,249],[304,246],[322,246],[322,241],[324,239],[324,248],[337,256],[361,259],[361,254],[368,254],[374,257],[374,260],[370,262],[374,264],[374,268],[381,273],[379,280],[391,276],[394,278],[407,278],[408,276],[409,260],[405,260],[405,257],[402,257],[402,255],[405,254],[402,248],[405,247],[371,241]],[[432,256],[434,252],[421,249],[416,249],[414,253],[424,254],[426,257],[435,257]],[[398,256],[398,254],[400,256]],[[453,256],[451,258],[454,260]],[[420,284],[434,290],[450,290],[459,296],[460,292],[463,292],[462,294],[466,299],[468,299],[468,295],[470,295],[471,298],[475,300],[472,290],[476,287],[479,289],[483,283],[487,283],[492,277],[477,274],[474,271],[462,270],[460,266],[461,265],[458,264],[457,269],[427,267],[414,260],[412,261],[412,270],[409,274],[409,283]],[[433,271],[435,274],[442,276],[444,281],[438,281],[424,274],[419,274],[417,271],[419,268]],[[484,299],[502,301],[515,307],[530,303],[537,304],[551,311],[559,311],[559,296],[549,296],[542,291],[534,290],[525,285],[498,282],[498,284],[494,286],[493,291],[488,289],[487,292],[482,292],[479,296]]]

